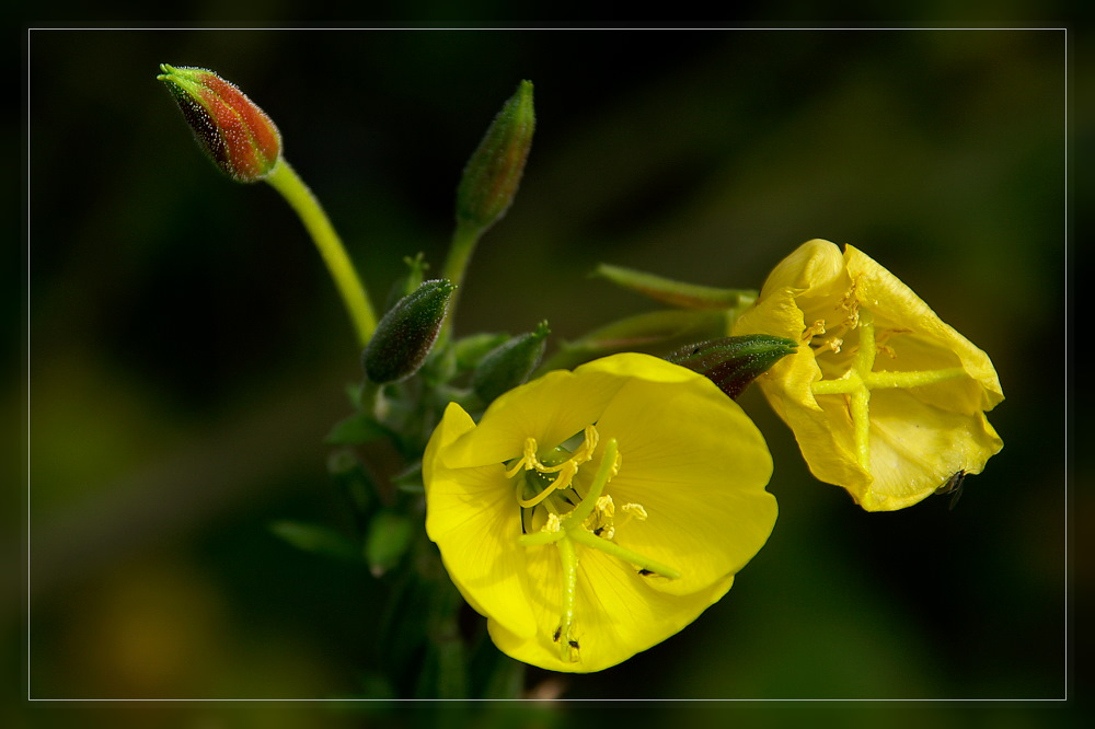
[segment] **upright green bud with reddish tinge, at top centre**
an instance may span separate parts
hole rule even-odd
[[[535,124],[532,82],[521,81],[464,167],[457,188],[459,224],[483,232],[506,215],[525,172]]]

